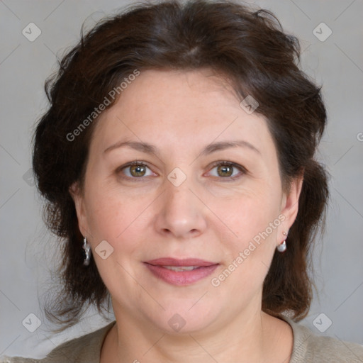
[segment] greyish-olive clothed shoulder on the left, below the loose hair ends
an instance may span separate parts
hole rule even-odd
[[[115,323],[64,342],[43,359],[4,356],[0,357],[0,363],[99,363],[104,338]]]

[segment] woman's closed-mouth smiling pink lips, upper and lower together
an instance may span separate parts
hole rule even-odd
[[[151,261],[144,262],[144,264],[155,277],[174,286],[187,286],[205,279],[219,265],[218,263],[203,259],[174,259],[169,257],[152,259]],[[167,269],[164,266],[198,266],[198,268],[191,271],[178,272]]]

